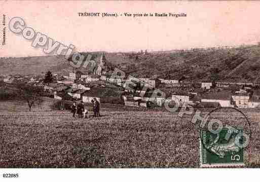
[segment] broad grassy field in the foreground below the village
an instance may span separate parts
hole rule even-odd
[[[1,111],[0,167],[199,167],[199,133],[188,115],[121,107],[89,119],[26,107]],[[246,115],[252,124],[246,166],[259,167],[260,114]]]

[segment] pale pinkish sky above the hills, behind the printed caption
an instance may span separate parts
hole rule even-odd
[[[259,10],[260,1],[0,1],[1,20],[3,14],[7,16],[6,45],[0,46],[0,57],[46,55],[43,47],[33,48],[32,41],[9,30],[13,17],[48,38],[74,45],[73,51],[127,52],[257,44]],[[123,16],[80,17],[79,12]],[[125,17],[126,12],[187,16]]]

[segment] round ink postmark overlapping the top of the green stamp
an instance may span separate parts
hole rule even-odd
[[[251,125],[246,115],[235,107],[217,107],[209,112],[199,128],[203,150],[218,158],[232,154],[240,160],[251,138]],[[234,157],[235,156],[235,157]]]

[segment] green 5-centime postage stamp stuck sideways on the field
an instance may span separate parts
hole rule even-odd
[[[243,129],[201,130],[200,167],[244,166]]]

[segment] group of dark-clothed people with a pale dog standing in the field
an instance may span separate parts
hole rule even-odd
[[[93,104],[93,112],[94,117],[100,117],[100,103],[99,101],[94,98],[91,100]],[[83,101],[81,101],[79,104],[76,104],[76,102],[73,102],[71,105],[71,113],[73,114],[72,117],[75,118],[76,113],[78,114],[79,118],[85,118],[87,115],[87,118],[89,118],[89,111],[84,108]]]

